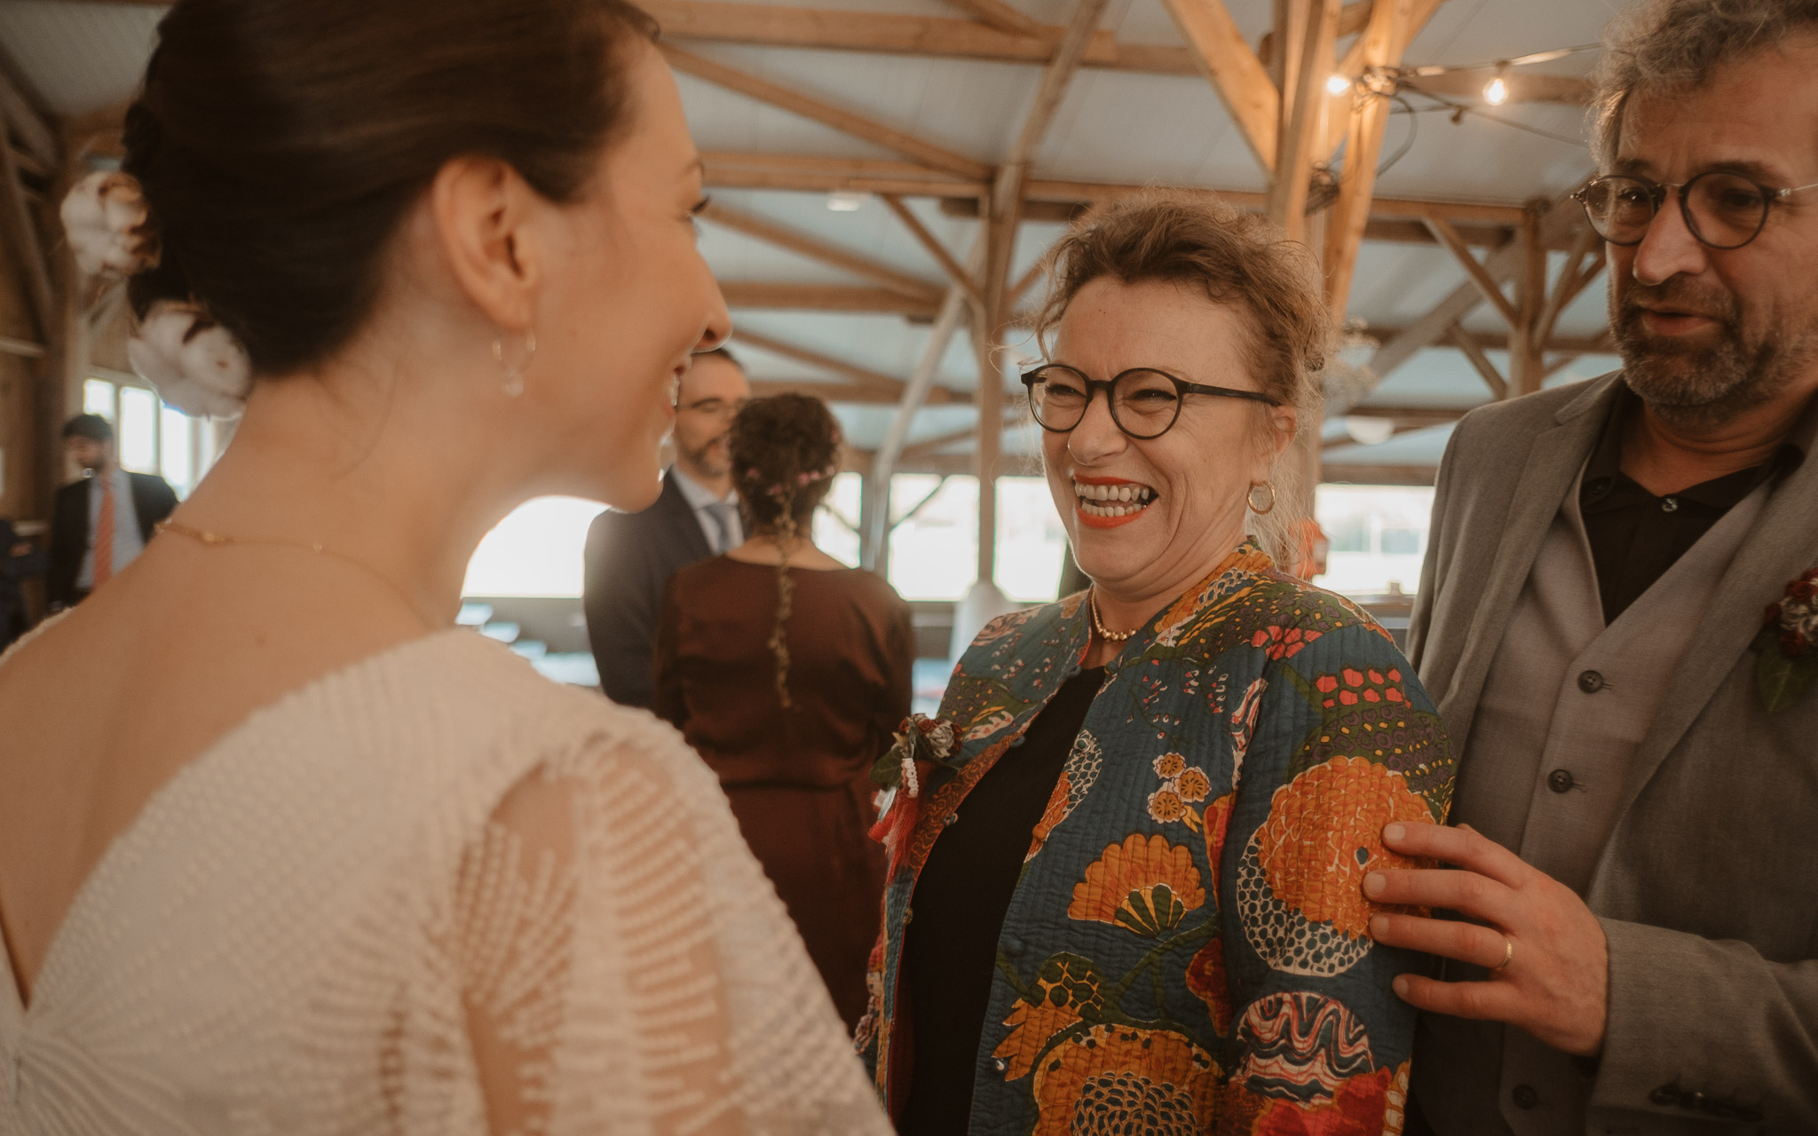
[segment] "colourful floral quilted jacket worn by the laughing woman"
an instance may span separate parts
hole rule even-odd
[[[1005,616],[947,687],[956,752],[891,838],[858,1031],[893,1114],[916,874],[1089,640],[1082,596]],[[1362,880],[1451,787],[1389,636],[1242,545],[1105,667],[1004,918],[973,1136],[1398,1132],[1414,1011],[1389,982],[1416,963],[1371,942]]]

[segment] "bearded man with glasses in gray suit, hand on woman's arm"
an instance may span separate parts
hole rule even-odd
[[[1409,1131],[1818,1132],[1818,0],[1653,0],[1598,93],[1623,369],[1469,414],[1409,656],[1453,865],[1371,874],[1440,956]],[[1460,918],[1462,916],[1462,918]]]

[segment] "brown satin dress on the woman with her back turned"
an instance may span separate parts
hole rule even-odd
[[[909,714],[909,605],[858,569],[789,569],[789,698],[776,698],[776,567],[714,556],[676,573],[656,625],[653,707],[720,774],[745,843],[794,918],[847,1027],[865,1009],[884,849],[871,763]]]

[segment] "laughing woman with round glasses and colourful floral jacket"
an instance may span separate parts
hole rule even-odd
[[[1360,885],[1451,752],[1389,636],[1264,551],[1329,327],[1305,251],[1204,198],[1062,242],[1024,385],[1093,585],[985,627],[884,771],[860,1047],[905,1136],[1400,1129],[1414,958]]]

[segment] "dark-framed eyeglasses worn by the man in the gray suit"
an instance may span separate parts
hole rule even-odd
[[[1634,174],[1603,174],[1585,182],[1573,200],[1583,205],[1585,220],[1598,236],[1613,245],[1638,245],[1654,224],[1654,214],[1667,204],[1667,191],[1676,189],[1680,216],[1700,244],[1740,249],[1762,234],[1774,202],[1813,187],[1818,182],[1774,189],[1727,169],[1707,169],[1678,185]]]

